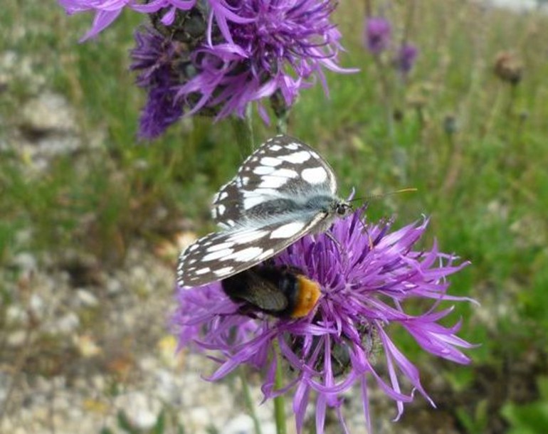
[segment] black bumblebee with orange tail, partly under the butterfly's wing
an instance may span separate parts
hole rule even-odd
[[[305,317],[320,298],[320,285],[297,268],[258,265],[221,281],[243,313],[265,312],[279,318]]]

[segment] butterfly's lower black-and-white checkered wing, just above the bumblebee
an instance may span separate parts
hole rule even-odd
[[[322,218],[321,213],[303,213],[300,219],[210,233],[181,253],[177,284],[196,287],[247,270],[301,238]]]

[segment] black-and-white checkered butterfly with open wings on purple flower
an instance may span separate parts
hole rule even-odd
[[[352,210],[337,196],[331,166],[307,144],[278,135],[253,152],[214,196],[219,231],[179,256],[177,284],[226,279],[280,253],[308,233],[327,231]]]

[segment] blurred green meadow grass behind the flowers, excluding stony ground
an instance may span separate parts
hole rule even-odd
[[[160,207],[169,221],[186,218],[189,228],[206,232],[209,198],[242,156],[231,125],[207,119],[137,143],[144,95],[127,73],[127,52],[140,17],[125,14],[96,41],[78,44],[89,16],[68,18],[54,1],[4,3],[0,27],[10,31],[0,53],[30,62],[43,85],[16,75],[0,93],[0,140],[11,141],[20,107],[43,90],[68,99],[86,143],[98,132],[105,136],[100,149],[85,148],[78,164],[59,158],[40,176],[28,176],[16,152],[1,154],[0,260],[9,263],[26,250],[55,255],[77,241],[115,266],[136,239],[153,245],[174,236],[166,221],[154,221]],[[488,327],[473,307],[458,307],[463,336],[482,344],[470,351],[474,365],[498,366],[501,357],[512,363],[526,351],[542,353],[548,333],[548,17],[462,3],[417,2],[411,38],[421,55],[404,85],[389,68],[376,68],[361,46],[361,14],[342,2],[342,64],[361,70],[328,73],[330,99],[320,86],[302,92],[289,131],[332,162],[343,196],[352,187],[358,196],[418,189],[372,200],[368,216],[396,213],[396,224],[404,225],[424,213],[431,217],[428,240],[472,262],[453,277],[452,291],[493,312],[498,302],[510,310]],[[406,9],[393,13],[403,20]],[[522,59],[524,77],[515,88],[492,72],[500,51]],[[394,109],[401,120],[391,117]],[[448,117],[454,134],[446,130]],[[271,134],[255,120],[258,139]],[[23,230],[33,236],[14,235]],[[415,353],[412,359],[421,357]]]

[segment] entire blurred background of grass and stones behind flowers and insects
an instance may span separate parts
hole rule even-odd
[[[430,216],[426,245],[435,238],[472,263],[451,292],[481,304],[452,317],[480,344],[470,366],[394,330],[438,408],[419,396],[393,423],[393,404],[374,390],[374,427],[546,433],[544,1],[372,2],[418,48],[404,75],[364,47],[364,4],[340,3],[341,63],[360,72],[328,73],[329,99],[321,86],[303,91],[288,132],[325,155],[342,196],[418,189],[372,199],[367,217],[404,226]],[[204,381],[211,369],[174,356],[167,330],[176,255],[213,228],[210,198],[244,157],[235,130],[195,117],[138,142],[145,95],[128,51],[143,17],[122,14],[79,44],[91,19],[68,18],[53,0],[2,1],[0,432],[251,433],[238,377]],[[260,120],[254,131],[275,134]],[[251,395],[260,402],[258,388]],[[258,407],[264,433],[270,405]],[[365,433],[359,399],[345,406],[352,433]],[[336,418],[327,430],[339,432]]]

